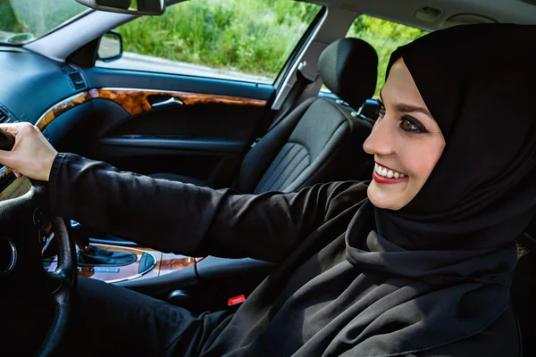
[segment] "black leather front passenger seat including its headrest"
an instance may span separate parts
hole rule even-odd
[[[351,107],[359,108],[373,95],[377,67],[373,47],[360,39],[342,38],[327,46],[319,58],[320,76],[350,106],[325,97],[298,105],[246,154],[232,188],[253,194],[292,192],[319,182],[370,179],[372,161],[362,145],[372,128]],[[174,174],[151,176],[212,187]]]

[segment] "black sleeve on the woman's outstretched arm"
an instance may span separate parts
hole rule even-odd
[[[122,172],[75,154],[58,154],[50,174],[53,211],[64,217],[163,252],[269,262],[281,262],[338,210],[333,199],[352,185],[239,195]]]

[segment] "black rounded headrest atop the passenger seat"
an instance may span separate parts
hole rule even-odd
[[[359,38],[341,38],[327,46],[318,68],[323,84],[354,109],[374,95],[378,54]]]

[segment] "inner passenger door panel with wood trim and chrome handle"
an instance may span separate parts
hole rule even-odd
[[[95,134],[91,157],[121,170],[175,173],[216,187],[230,186],[274,92],[268,85],[138,71],[93,68],[86,77],[90,99],[123,109],[89,130]],[[100,107],[94,106],[96,118],[105,116]]]

